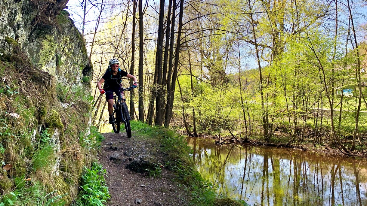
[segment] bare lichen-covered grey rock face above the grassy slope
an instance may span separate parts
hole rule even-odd
[[[84,38],[63,10],[66,2],[0,1],[0,55],[12,54],[12,45],[6,40],[10,38],[34,66],[57,82],[90,87],[91,62]]]

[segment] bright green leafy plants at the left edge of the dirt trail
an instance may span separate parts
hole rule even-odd
[[[85,173],[81,177],[81,191],[75,205],[103,206],[103,203],[110,198],[104,178],[106,170],[97,162],[92,164],[91,169],[84,168],[84,170]]]

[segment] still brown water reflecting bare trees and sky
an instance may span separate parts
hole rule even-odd
[[[366,160],[187,141],[201,176],[219,194],[254,206],[367,206]]]

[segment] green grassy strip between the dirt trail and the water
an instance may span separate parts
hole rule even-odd
[[[158,140],[159,150],[164,156],[164,166],[176,174],[177,183],[191,196],[190,205],[195,206],[237,206],[244,202],[218,198],[212,190],[212,184],[204,180],[197,172],[195,163],[189,156],[191,151],[186,137],[164,127],[149,126],[142,122],[130,121],[135,136]],[[234,203],[235,202],[235,203]]]

